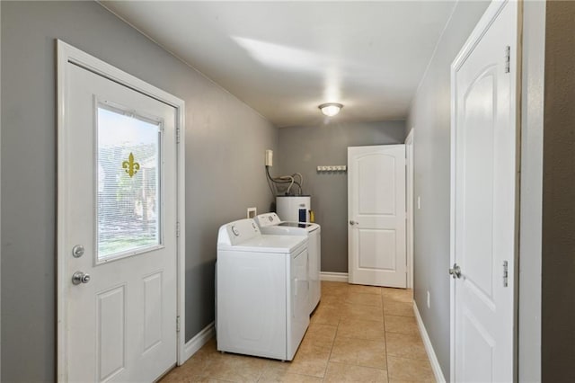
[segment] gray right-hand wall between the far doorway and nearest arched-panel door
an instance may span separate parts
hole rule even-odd
[[[449,379],[450,66],[489,3],[459,2],[411,103],[413,146],[413,297]],[[414,204],[417,207],[417,204]],[[430,308],[426,294],[430,293]]]

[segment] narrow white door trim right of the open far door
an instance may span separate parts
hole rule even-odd
[[[405,253],[407,288],[413,289],[413,139],[415,128],[405,138]]]

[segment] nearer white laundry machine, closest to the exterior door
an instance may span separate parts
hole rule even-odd
[[[291,361],[309,325],[307,237],[251,218],[217,235],[217,350]]]

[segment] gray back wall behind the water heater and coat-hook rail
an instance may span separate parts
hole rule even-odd
[[[280,166],[273,175],[304,175],[315,221],[322,225],[322,271],[348,272],[347,173],[318,173],[318,165],[347,165],[348,147],[401,144],[405,121],[331,123],[279,129]]]

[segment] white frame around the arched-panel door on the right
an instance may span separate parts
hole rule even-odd
[[[481,19],[473,28],[473,31],[465,40],[463,48],[459,51],[453,63],[451,64],[451,150],[450,150],[450,213],[449,213],[449,265],[450,268],[452,264],[456,261],[456,71],[463,66],[465,60],[469,57],[475,46],[482,39],[485,32],[491,27],[491,24],[499,16],[503,7],[508,3],[513,3],[511,0],[503,1],[492,1],[491,4],[482,14]],[[517,46],[517,58],[511,58],[510,68],[511,68],[511,86],[516,88],[516,93],[511,95],[510,104],[515,105],[514,119],[515,129],[516,129],[516,198],[515,198],[515,232],[514,232],[514,254],[513,262],[515,267],[512,268],[514,274],[509,275],[509,278],[514,282],[513,287],[513,376],[517,379],[517,292],[519,289],[518,284],[518,260],[519,260],[519,201],[520,201],[520,178],[519,169],[521,169],[521,58],[522,58],[522,18],[523,11],[521,7],[521,2],[518,2],[517,6],[517,41],[515,44]],[[447,271],[447,270],[446,270]],[[447,274],[447,272],[446,272]],[[449,283],[449,380],[455,381],[456,378],[456,284],[453,281]]]

